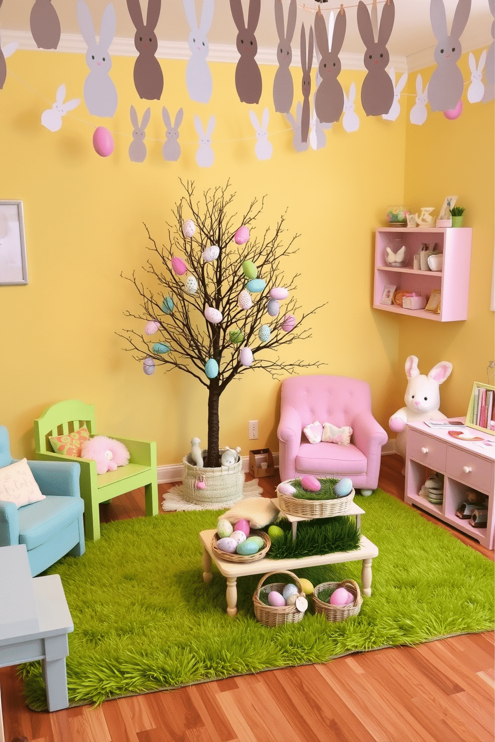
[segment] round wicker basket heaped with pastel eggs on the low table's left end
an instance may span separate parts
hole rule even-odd
[[[249,528],[245,519],[235,525],[220,519],[212,539],[213,553],[227,562],[256,562],[263,559],[271,545],[268,533]]]

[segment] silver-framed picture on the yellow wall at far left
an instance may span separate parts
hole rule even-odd
[[[0,286],[27,283],[22,201],[0,200]]]

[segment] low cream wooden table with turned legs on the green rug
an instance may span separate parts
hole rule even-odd
[[[286,570],[316,567],[323,564],[341,564],[343,562],[363,562],[361,569],[361,593],[371,595],[371,562],[378,557],[378,546],[370,542],[366,536],[361,536],[359,548],[353,551],[335,551],[333,554],[320,554],[317,557],[301,557],[301,559],[258,559],[257,562],[227,562],[220,559],[212,550],[212,539],[217,531],[201,531],[200,541],[203,546],[203,580],[212,581],[212,560],[217,565],[220,574],[227,580],[227,613],[234,617],[237,614],[237,577],[246,574],[263,574],[268,572],[284,572]]]

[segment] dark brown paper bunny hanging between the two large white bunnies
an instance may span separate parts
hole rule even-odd
[[[142,19],[140,0],[127,0],[131,21],[136,27],[134,46],[138,57],[134,62],[134,85],[140,98],[160,100],[163,92],[163,72],[156,56],[157,34],[154,33],[160,18],[161,0],[148,0],[146,23]]]

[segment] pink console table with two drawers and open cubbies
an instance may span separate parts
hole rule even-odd
[[[463,420],[464,418],[456,418]],[[462,441],[453,438],[449,429],[431,428],[424,423],[407,425],[406,486],[404,500],[445,521],[458,531],[467,533],[489,549],[494,548],[494,470],[495,439],[488,433],[461,428],[482,441]],[[434,505],[419,495],[430,472],[445,476],[442,505]],[[465,500],[468,488],[488,495],[486,528],[474,528],[468,520],[456,517],[456,510]]]

